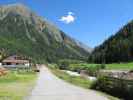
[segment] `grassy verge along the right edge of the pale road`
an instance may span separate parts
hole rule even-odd
[[[91,84],[93,84],[92,81],[89,81],[88,79],[86,79],[84,77],[71,76],[71,75],[69,75],[69,74],[67,74],[64,71],[61,71],[59,69],[52,68],[51,71],[52,71],[53,74],[55,74],[60,79],[63,79],[63,80],[65,80],[69,83],[72,83],[74,85],[83,87],[85,89],[89,89],[91,87]],[[115,98],[115,97],[110,96],[108,94],[105,94],[103,92],[98,92],[98,93],[100,93],[101,95],[106,96],[109,100],[119,100],[118,98]]]

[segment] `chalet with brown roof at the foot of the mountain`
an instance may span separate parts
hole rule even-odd
[[[13,55],[9,56],[6,59],[2,61],[2,66],[8,66],[8,67],[16,67],[16,66],[23,66],[23,67],[29,67],[30,62],[29,60],[24,59],[21,56]]]

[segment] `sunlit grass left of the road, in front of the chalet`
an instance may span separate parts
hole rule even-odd
[[[9,72],[0,77],[0,100],[23,100],[35,83],[35,73]]]

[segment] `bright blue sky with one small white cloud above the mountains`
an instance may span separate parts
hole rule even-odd
[[[133,20],[133,0],[0,0],[22,3],[69,36],[95,47]]]

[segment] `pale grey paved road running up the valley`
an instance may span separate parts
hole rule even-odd
[[[76,87],[41,68],[38,82],[28,100],[108,100],[95,91]]]

